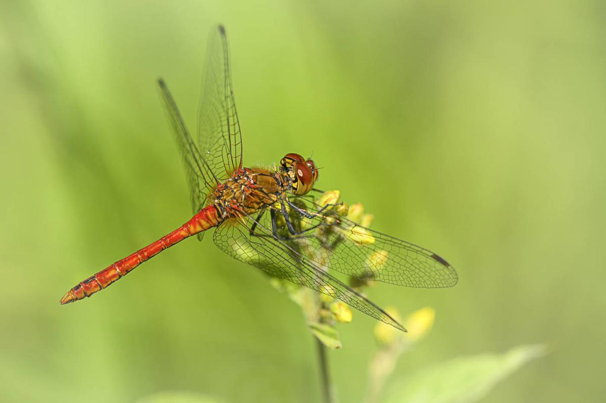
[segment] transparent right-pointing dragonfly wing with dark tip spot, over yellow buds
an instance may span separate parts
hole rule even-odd
[[[407,287],[451,287],[458,281],[454,268],[424,247],[362,227],[333,211],[320,212],[309,198],[291,199],[299,208],[315,215],[305,218],[291,209],[291,222],[304,231],[297,236],[317,251],[309,258],[321,267],[359,279]],[[291,237],[288,233],[284,236]]]

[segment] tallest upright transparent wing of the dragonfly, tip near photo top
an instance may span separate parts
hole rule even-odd
[[[222,25],[211,34],[208,45],[198,113],[198,145],[219,180],[242,167],[242,135],[231,85],[227,35]]]

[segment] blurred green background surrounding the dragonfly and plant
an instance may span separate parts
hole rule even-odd
[[[218,22],[246,165],[313,151],[322,189],[458,269],[453,289],[370,290],[403,313],[437,312],[398,376],[547,342],[550,355],[485,401],[604,398],[605,12],[599,1],[2,2],[1,400],[319,399],[299,308],[210,237],[58,303],[189,217],[155,79],[194,129]],[[342,402],[365,393],[374,324],[355,312],[339,327]]]

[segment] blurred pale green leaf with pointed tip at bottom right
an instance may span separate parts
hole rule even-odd
[[[504,354],[487,353],[443,362],[396,382],[384,402],[475,402],[522,365],[546,352],[542,345],[519,346]]]

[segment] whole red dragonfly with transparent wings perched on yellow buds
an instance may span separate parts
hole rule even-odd
[[[205,61],[194,139],[164,80],[158,92],[181,151],[190,185],[193,217],[175,231],[76,284],[61,304],[107,288],[139,264],[185,238],[214,228],[214,243],[233,258],[267,274],[325,293],[371,317],[404,327],[361,292],[336,278],[398,286],[439,288],[458,281],[444,258],[424,247],[365,228],[333,205],[319,205],[313,192],[319,169],[294,152],[272,168],[242,165],[242,133],[231,80],[225,28],[212,34]]]

